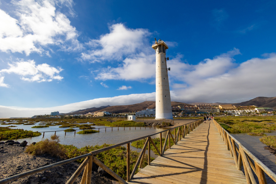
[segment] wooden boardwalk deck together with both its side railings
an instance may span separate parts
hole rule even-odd
[[[264,173],[267,174],[267,177],[270,177],[276,182],[276,175],[254,155],[252,155],[243,145],[241,145],[239,141],[225,131],[225,129],[223,129],[215,120],[213,120],[213,123],[208,122],[208,124],[202,122],[203,120],[197,120],[195,122],[161,131],[152,135],[139,137],[99,150],[94,150],[82,156],[2,179],[0,180],[0,184],[14,181],[56,166],[67,164],[81,158],[85,158],[85,160],[66,184],[73,183],[83,170],[84,172],[81,183],[90,184],[92,162],[103,168],[120,183],[257,184],[258,181],[260,184],[266,184],[267,182]],[[208,130],[206,127],[209,127]],[[177,132],[176,128],[178,128]],[[171,131],[174,131],[175,136],[172,135]],[[158,148],[154,144],[151,136],[160,134],[160,140],[162,140],[162,132],[167,132],[165,143],[162,145],[162,142],[160,142],[160,148]],[[145,138],[146,142],[131,172],[130,143]],[[170,138],[172,138],[175,143],[172,147],[170,146],[170,141],[168,141]],[[167,141],[169,143],[169,149],[164,152]],[[150,150],[148,150],[148,166],[138,169],[141,168],[146,147],[150,147],[151,143],[157,150],[159,156],[151,162]],[[126,144],[127,181],[124,181],[120,176],[114,173],[114,171],[110,170],[106,165],[99,161],[94,155]],[[242,166],[244,168],[245,176],[241,172]],[[159,169],[156,169],[157,167],[159,167]],[[140,171],[135,175],[137,169]],[[253,172],[257,176],[256,179]]]

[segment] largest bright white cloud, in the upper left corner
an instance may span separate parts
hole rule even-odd
[[[0,50],[3,52],[32,52],[49,55],[47,46],[62,50],[79,50],[78,32],[70,20],[55,6],[65,5],[72,15],[72,1],[11,1],[15,13],[0,9]],[[12,16],[11,16],[12,14]]]

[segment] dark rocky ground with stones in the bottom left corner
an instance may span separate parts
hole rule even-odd
[[[22,143],[27,145],[26,141]],[[49,154],[32,156],[25,153],[26,145],[12,140],[0,142],[0,179],[24,173],[39,167],[62,161],[60,158]],[[16,181],[13,184],[61,184],[66,183],[80,166],[77,162],[70,162],[62,166],[51,168]],[[80,183],[83,172],[78,176],[74,183]],[[118,183],[104,170],[98,168],[93,163],[92,179],[93,183],[112,184]]]

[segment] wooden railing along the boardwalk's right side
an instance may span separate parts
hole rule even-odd
[[[273,173],[267,166],[265,166],[258,158],[256,158],[244,145],[242,145],[237,139],[235,139],[231,134],[229,134],[223,127],[221,127],[216,120],[213,119],[218,132],[227,148],[229,148],[231,156],[234,157],[236,166],[238,170],[241,170],[241,163],[244,166],[244,172],[246,176],[246,181],[252,184],[256,183],[253,172],[258,177],[260,184],[266,184],[266,179],[264,173],[266,173],[273,181],[276,182],[276,174]],[[236,147],[235,143],[239,146]],[[238,154],[238,155],[237,155]],[[253,162],[250,160],[253,160]]]

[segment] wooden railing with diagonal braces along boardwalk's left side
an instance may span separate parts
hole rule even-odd
[[[118,176],[114,171],[112,171],[106,165],[104,165],[101,161],[99,161],[94,155],[96,155],[98,153],[101,153],[101,152],[104,152],[104,151],[107,151],[107,150],[110,150],[110,149],[113,149],[113,148],[116,148],[116,147],[119,147],[119,146],[122,146],[122,145],[127,145],[127,158],[126,158],[127,159],[127,181],[130,181],[130,179],[133,178],[137,168],[138,167],[141,168],[142,159],[145,156],[145,151],[146,151],[147,145],[150,147],[150,143],[152,143],[153,146],[155,147],[155,149],[158,151],[158,154],[160,156],[162,156],[162,154],[164,154],[165,146],[166,146],[167,141],[169,143],[169,148],[170,148],[170,141],[169,141],[170,138],[172,138],[173,142],[176,144],[178,139],[180,140],[181,137],[184,138],[185,135],[187,135],[188,133],[193,131],[193,129],[198,127],[198,125],[200,125],[202,123],[202,121],[203,120],[196,120],[194,122],[191,122],[191,123],[188,123],[188,124],[185,124],[185,125],[181,125],[181,126],[178,126],[178,127],[175,127],[175,128],[171,128],[171,129],[168,129],[168,130],[165,130],[165,131],[161,131],[161,132],[158,132],[158,133],[154,133],[152,135],[146,135],[146,136],[139,137],[139,138],[136,138],[136,139],[132,139],[132,140],[129,140],[129,141],[125,141],[125,142],[122,142],[122,143],[118,143],[118,144],[115,144],[115,145],[112,145],[112,146],[104,147],[104,148],[101,148],[99,150],[94,150],[92,152],[89,152],[88,154],[85,154],[85,155],[81,155],[81,156],[74,157],[74,158],[71,158],[71,159],[68,159],[68,160],[64,160],[64,161],[61,161],[61,162],[50,164],[48,166],[44,166],[44,167],[40,167],[40,168],[37,168],[37,169],[34,169],[34,170],[30,170],[30,171],[27,171],[25,173],[21,173],[21,174],[14,175],[14,176],[11,176],[11,177],[8,177],[8,178],[5,178],[5,179],[1,179],[0,184],[8,183],[8,182],[17,180],[19,178],[26,177],[26,176],[29,176],[29,175],[32,175],[32,174],[35,174],[35,173],[39,173],[41,171],[44,171],[44,170],[47,170],[47,169],[50,169],[50,168],[53,168],[53,167],[61,166],[63,164],[67,164],[67,163],[70,163],[70,162],[73,162],[73,161],[76,161],[76,160],[79,160],[79,159],[82,159],[82,158],[85,158],[85,160],[79,166],[79,168],[76,170],[76,172],[72,175],[72,177],[67,181],[66,184],[74,183],[74,181],[76,180],[78,175],[80,175],[80,173],[83,170],[84,170],[84,172],[83,172],[83,176],[82,176],[82,179],[81,179],[81,183],[82,184],[84,184],[84,183],[90,184],[91,183],[92,162],[94,162],[95,164],[97,164],[98,166],[103,168],[107,173],[109,173],[115,179],[120,181],[120,183],[127,183],[126,181],[124,181],[124,179],[122,179],[120,176]],[[176,132],[176,128],[178,128],[178,131],[175,134],[176,138],[174,139],[174,136],[172,136],[171,131]],[[158,149],[156,147],[156,145],[154,144],[154,142],[152,141],[151,136],[160,134],[160,138],[161,138],[160,140],[162,140],[162,133],[163,132],[167,132],[165,142],[164,142],[164,145],[160,144],[160,149]],[[140,155],[139,155],[138,160],[137,160],[137,162],[134,166],[134,169],[133,169],[132,173],[130,174],[130,143],[134,142],[134,141],[141,140],[141,139],[145,139],[145,138],[147,138],[147,140],[146,140],[146,142],[143,146],[142,151],[140,152]],[[148,150],[148,157],[150,158],[150,149]],[[150,165],[150,159],[148,159],[148,160],[149,160],[148,165]]]

